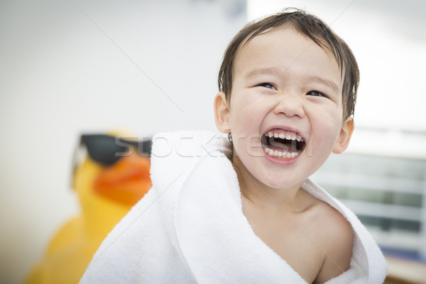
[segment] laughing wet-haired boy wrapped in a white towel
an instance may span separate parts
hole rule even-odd
[[[322,21],[249,23],[219,71],[212,133],[153,138],[153,188],[82,283],[383,283],[353,213],[308,180],[354,130],[354,55]]]

